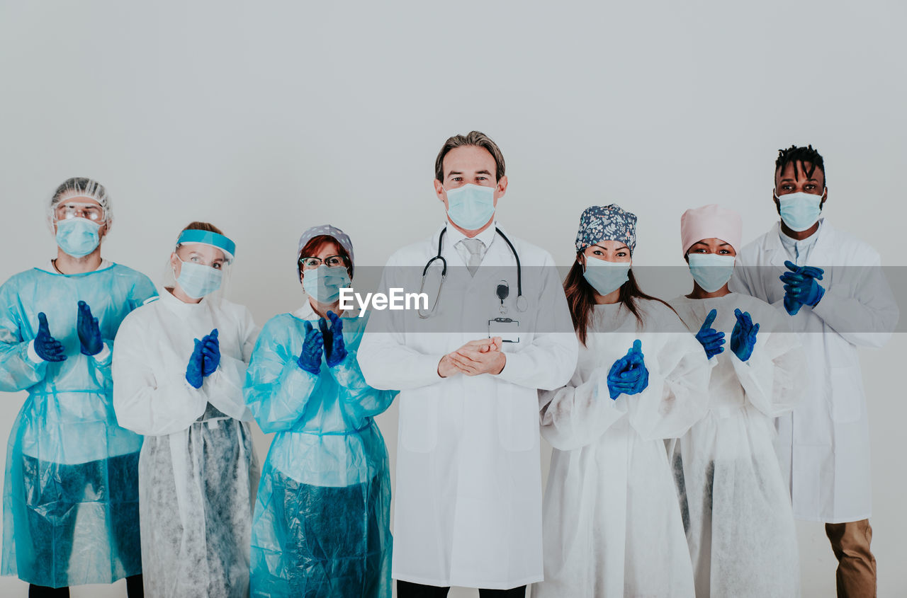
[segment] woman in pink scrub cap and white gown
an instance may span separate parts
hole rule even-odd
[[[772,442],[774,419],[804,391],[805,355],[775,308],[728,291],[742,236],[740,215],[725,207],[680,218],[693,292],[670,303],[711,363],[707,416],[673,445],[698,598],[800,593],[794,513]]]

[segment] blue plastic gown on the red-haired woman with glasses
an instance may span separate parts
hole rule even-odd
[[[366,384],[356,349],[367,317],[344,317],[348,355],[313,375],[297,359],[308,302],[272,318],[246,372],[246,402],[277,432],[252,517],[252,596],[391,596],[390,477],[372,418],[396,391]]]

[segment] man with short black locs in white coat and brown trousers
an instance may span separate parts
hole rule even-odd
[[[786,313],[807,356],[805,400],[777,420],[794,516],[825,523],[839,596],[875,595],[869,425],[857,347],[881,347],[898,308],[869,245],[820,218],[828,189],[812,146],[778,152],[781,222],[737,256],[732,290]]]

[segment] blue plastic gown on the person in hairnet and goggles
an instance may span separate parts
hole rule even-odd
[[[30,584],[110,584],[141,574],[141,436],[117,425],[111,349],[127,313],[157,296],[147,276],[104,262],[61,275],[34,268],[0,287],[0,391],[28,391],[6,449],[3,574]],[[98,319],[105,348],[81,352],[79,301]],[[36,362],[28,347],[38,313],[66,360]]]

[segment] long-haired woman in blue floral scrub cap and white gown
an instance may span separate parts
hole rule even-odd
[[[668,304],[639,290],[635,246],[633,214],[582,213],[564,281],[580,359],[566,386],[539,391],[554,451],[533,597],[693,595],[664,439],[705,413],[709,367]]]

